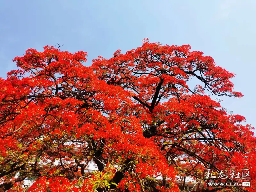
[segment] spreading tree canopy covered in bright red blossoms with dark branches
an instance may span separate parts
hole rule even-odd
[[[234,73],[189,45],[148,39],[89,67],[86,56],[28,49],[0,78],[0,191],[168,192],[186,177],[194,191],[255,191],[253,128],[220,105],[243,96]],[[209,186],[207,169],[249,169],[251,187]]]

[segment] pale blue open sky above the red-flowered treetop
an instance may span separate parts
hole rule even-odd
[[[88,63],[141,46],[141,40],[190,44],[235,72],[242,99],[222,106],[256,127],[255,0],[0,0],[0,77],[15,69],[11,60],[26,49],[64,44],[88,52]]]

